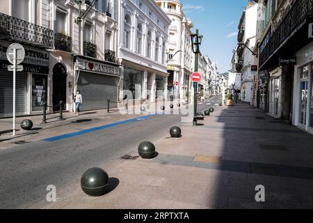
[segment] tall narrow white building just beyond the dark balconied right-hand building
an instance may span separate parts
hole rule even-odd
[[[254,58],[249,49],[252,50],[255,47],[257,33],[257,3],[254,3],[254,1],[248,2],[248,6],[241,16],[238,28],[238,43],[240,45],[237,48],[237,54],[239,57],[239,66],[237,69],[238,72],[241,72],[241,100],[251,103],[254,89],[254,76],[257,75],[257,70],[253,70],[253,67],[255,66]]]

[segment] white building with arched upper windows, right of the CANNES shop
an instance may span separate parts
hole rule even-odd
[[[155,102],[167,95],[166,48],[170,19],[149,0],[118,1],[120,100]]]

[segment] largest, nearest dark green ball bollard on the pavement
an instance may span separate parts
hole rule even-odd
[[[101,168],[88,169],[81,176],[81,189],[91,197],[102,196],[109,185],[109,175]]]

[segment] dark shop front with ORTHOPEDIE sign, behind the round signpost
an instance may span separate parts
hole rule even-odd
[[[0,42],[0,118],[13,116],[13,72],[6,50],[11,43]],[[25,116],[42,112],[42,102],[48,100],[49,52],[26,47],[23,71],[16,76],[16,114]]]

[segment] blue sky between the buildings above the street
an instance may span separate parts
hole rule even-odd
[[[248,0],[181,0],[194,28],[204,36],[202,54],[218,63],[218,72],[230,70],[238,24]]]

